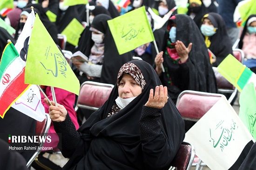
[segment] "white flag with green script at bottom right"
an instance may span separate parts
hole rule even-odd
[[[195,154],[211,170],[228,170],[246,144],[254,141],[226,98],[218,102],[186,133]]]

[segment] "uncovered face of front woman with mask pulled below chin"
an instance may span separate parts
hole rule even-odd
[[[123,74],[118,87],[120,98],[133,98],[141,94],[141,86],[129,74]]]

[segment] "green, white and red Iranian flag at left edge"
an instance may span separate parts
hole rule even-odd
[[[25,65],[19,53],[8,42],[0,61],[0,117],[23,94],[30,85],[24,84]]]

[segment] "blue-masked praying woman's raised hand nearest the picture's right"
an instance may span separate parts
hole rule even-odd
[[[189,43],[189,46],[186,46],[182,43],[182,41],[177,40],[175,49],[181,58],[181,62],[184,63],[189,58],[189,52],[191,51],[192,43]]]

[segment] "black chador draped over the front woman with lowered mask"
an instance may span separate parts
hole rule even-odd
[[[161,82],[147,62],[131,63],[139,67],[147,83],[142,93],[107,118],[118,96],[115,85],[106,103],[78,129],[81,138],[69,147],[72,152],[62,150],[64,156],[72,155],[64,170],[169,169],[184,139],[184,121],[170,98],[162,109],[143,106],[150,89]]]

